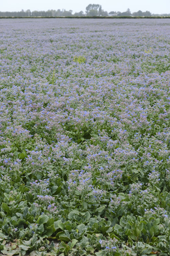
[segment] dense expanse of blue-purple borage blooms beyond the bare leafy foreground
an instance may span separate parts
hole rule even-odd
[[[50,213],[60,189],[98,201],[111,193],[116,209],[113,191],[128,193],[129,181],[129,199],[143,201],[146,183],[168,184],[169,24],[2,19],[0,181]]]

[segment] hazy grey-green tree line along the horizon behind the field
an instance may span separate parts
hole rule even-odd
[[[157,14],[156,14],[157,15]],[[169,14],[164,14],[164,16],[168,16]],[[130,9],[128,8],[126,12],[106,12],[102,9],[100,4],[89,4],[86,7],[85,13],[83,11],[72,13],[72,10],[66,11],[65,9],[60,10],[48,10],[48,11],[24,11],[21,10],[19,12],[0,12],[0,17],[83,17],[83,16],[154,16],[151,12],[146,11],[137,11],[131,13]]]

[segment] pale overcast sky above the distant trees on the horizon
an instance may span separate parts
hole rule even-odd
[[[90,3],[101,4],[102,9],[107,12],[124,12],[129,8],[131,12],[141,10],[155,14],[170,13],[170,0],[1,0],[0,11],[66,9],[75,13],[85,12],[86,6]]]

